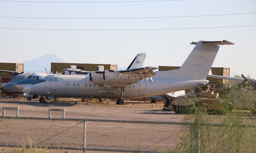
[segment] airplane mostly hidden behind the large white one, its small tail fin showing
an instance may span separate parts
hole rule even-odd
[[[146,57],[146,53],[137,54],[127,69],[138,69],[138,68],[142,67],[143,62],[145,61],[145,57]],[[103,72],[103,70],[102,70],[102,72]],[[90,71],[83,71],[81,69],[76,69],[75,65],[70,65],[70,68],[64,69],[62,74],[63,75],[86,75],[89,73],[90,73]],[[24,91],[23,88],[25,88],[25,86],[27,86],[28,84],[35,84],[35,83],[42,82],[42,79],[44,79],[45,76],[46,75],[43,74],[43,76],[37,80],[31,79],[32,77],[28,77],[27,79],[24,79],[24,80],[21,80],[21,81],[15,83],[15,87],[17,87],[21,91]],[[26,91],[24,91],[24,92],[26,92]],[[30,100],[31,100],[31,98],[30,98]],[[83,101],[83,99],[82,99],[82,101]]]

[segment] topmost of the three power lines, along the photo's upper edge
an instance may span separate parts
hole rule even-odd
[[[89,2],[65,2],[65,1],[0,1],[0,2],[21,2],[21,3],[137,3],[137,2],[170,2],[170,1],[182,1],[182,0],[153,0],[153,1],[89,1]]]

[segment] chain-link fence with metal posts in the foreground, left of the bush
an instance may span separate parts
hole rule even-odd
[[[185,123],[0,117],[0,146],[73,150],[173,151]],[[177,132],[178,131],[178,132]]]

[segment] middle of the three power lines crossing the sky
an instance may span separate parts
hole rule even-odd
[[[17,19],[159,19],[159,18],[191,18],[204,16],[225,16],[225,15],[245,15],[253,13],[234,13],[234,14],[212,14],[212,15],[188,15],[188,16],[155,16],[155,17],[128,17],[128,18],[45,18],[45,17],[21,17],[21,16],[0,16],[0,18],[17,18]]]

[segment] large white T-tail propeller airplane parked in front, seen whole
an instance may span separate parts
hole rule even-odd
[[[90,75],[51,75],[43,82],[28,84],[24,90],[35,95],[82,98],[113,98],[123,105],[125,98],[142,98],[170,92],[194,89],[206,80],[220,46],[234,45],[223,41],[198,41],[180,69],[155,73],[158,67],[141,67],[129,70],[105,70]],[[153,81],[154,80],[154,81]],[[124,92],[125,91],[125,92]],[[39,98],[45,102],[45,98]]]

